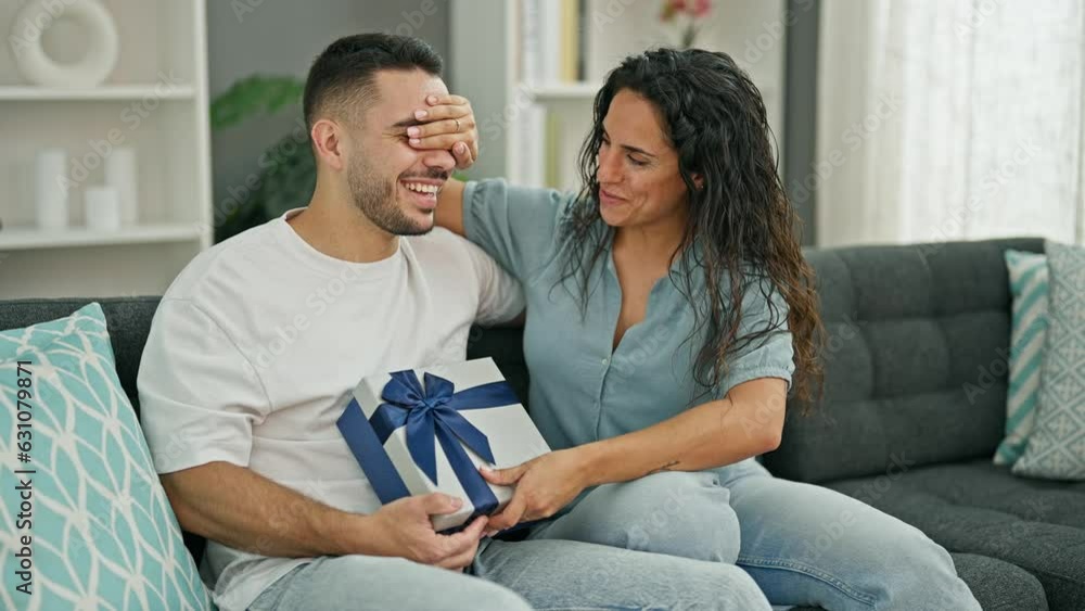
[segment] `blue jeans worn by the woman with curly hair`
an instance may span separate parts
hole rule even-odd
[[[532,540],[567,539],[744,569],[774,606],[980,610],[953,559],[918,529],[754,459],[591,491]]]

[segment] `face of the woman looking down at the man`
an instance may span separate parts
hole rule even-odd
[[[599,214],[611,227],[685,222],[686,183],[655,105],[628,89],[611,100],[599,147]]]

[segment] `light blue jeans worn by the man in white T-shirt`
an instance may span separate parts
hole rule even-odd
[[[484,539],[470,573],[372,556],[316,558],[281,577],[253,611],[768,611],[733,564],[571,540]]]

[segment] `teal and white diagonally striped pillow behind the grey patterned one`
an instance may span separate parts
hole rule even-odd
[[[995,464],[1013,464],[1024,451],[1039,405],[1039,370],[1047,339],[1047,255],[1010,250],[1005,256],[1013,322],[1006,437],[995,450]]]

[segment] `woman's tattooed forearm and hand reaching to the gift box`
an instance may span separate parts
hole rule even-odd
[[[490,483],[516,485],[509,505],[490,517],[490,532],[549,518],[589,486],[659,471],[702,471],[771,451],[780,445],[787,387],[778,378],[751,380],[723,399],[647,429],[484,470]]]

